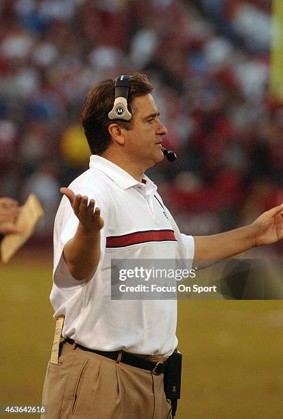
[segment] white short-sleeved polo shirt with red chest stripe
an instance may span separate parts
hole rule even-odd
[[[180,233],[156,185],[145,175],[143,182],[103,157],[90,156],[90,168],[69,188],[95,199],[101,210],[99,266],[88,282],[71,276],[62,252],[79,221],[63,196],[54,226],[50,299],[54,318],[65,316],[65,338],[100,351],[169,356],[177,346],[177,301],[110,298],[111,259],[193,259],[193,237]]]

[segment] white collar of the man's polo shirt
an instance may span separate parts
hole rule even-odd
[[[147,176],[143,175],[143,183],[137,181],[129,173],[127,173],[123,168],[117,166],[116,164],[110,162],[110,160],[101,157],[100,155],[91,155],[90,156],[90,168],[95,168],[105,173],[110,179],[112,179],[119,188],[126,190],[135,185],[147,185],[155,186],[153,181],[151,181]]]

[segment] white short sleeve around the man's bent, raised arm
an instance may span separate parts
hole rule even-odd
[[[103,261],[106,249],[106,226],[108,223],[108,205],[106,205],[105,200],[99,193],[99,191],[93,188],[79,188],[78,190],[73,190],[75,194],[82,194],[88,196],[88,199],[95,199],[95,207],[99,207],[101,210],[101,217],[104,220],[104,227],[101,229],[101,256],[99,260],[99,266]],[[77,231],[79,225],[79,220],[75,216],[73,209],[69,203],[69,199],[66,196],[62,197],[62,201],[58,208],[56,214],[55,224],[54,224],[54,264],[53,264],[53,281],[54,283],[62,289],[71,289],[79,288],[85,285],[85,281],[77,281],[72,277],[71,272],[69,271],[66,262],[63,257],[64,246]],[[94,275],[95,276],[95,275]],[[91,278],[93,279],[93,278]],[[91,280],[90,279],[90,280]]]

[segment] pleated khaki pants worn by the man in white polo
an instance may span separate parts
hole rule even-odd
[[[42,419],[169,419],[163,374],[154,375],[65,343],[48,364]]]

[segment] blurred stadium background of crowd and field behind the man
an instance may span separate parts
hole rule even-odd
[[[79,124],[99,79],[143,71],[167,147],[149,170],[180,229],[211,234],[283,201],[283,110],[269,93],[271,1],[2,0],[0,196],[45,210],[0,265],[0,404],[39,404],[53,338],[52,225],[60,186],[88,166]],[[280,257],[282,244],[256,249]],[[177,418],[281,418],[280,301],[181,301]],[[23,416],[21,416],[23,417]]]

